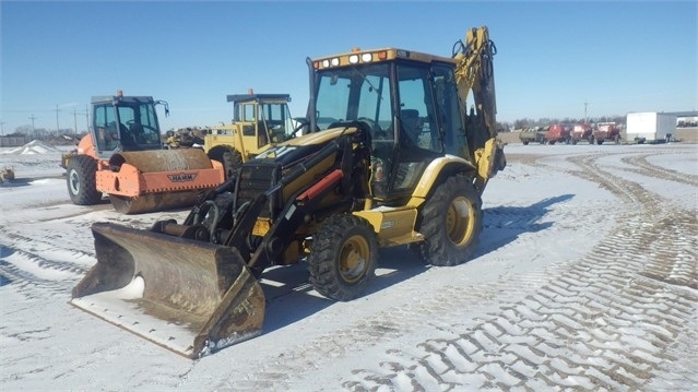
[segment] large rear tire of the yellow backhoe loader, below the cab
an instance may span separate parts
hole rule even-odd
[[[465,216],[463,216],[465,215]],[[482,199],[465,177],[449,177],[429,197],[417,222],[425,241],[422,259],[431,265],[458,265],[468,261],[482,231]]]

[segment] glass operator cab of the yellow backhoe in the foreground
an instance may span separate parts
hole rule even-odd
[[[453,69],[450,59],[400,49],[316,60],[311,127],[370,132],[371,193],[386,204],[404,200],[431,161],[469,156]]]

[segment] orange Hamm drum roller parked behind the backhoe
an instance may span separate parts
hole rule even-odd
[[[191,206],[224,181],[223,165],[200,149],[163,150],[156,105],[150,96],[92,97],[92,129],[74,153],[61,157],[74,204],[109,195],[114,209],[138,214]]]

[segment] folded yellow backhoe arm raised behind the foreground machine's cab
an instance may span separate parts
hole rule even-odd
[[[493,68],[493,57],[496,54],[497,47],[489,39],[487,27],[483,26],[469,29],[465,44],[459,40],[452,55],[459,61],[456,67],[456,83],[471,159],[477,166],[475,188],[481,194],[489,178],[506,166],[504,146],[496,139],[497,99]],[[471,93],[474,106],[468,108]]]

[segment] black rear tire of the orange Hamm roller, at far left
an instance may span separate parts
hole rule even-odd
[[[102,201],[102,192],[97,191],[97,161],[88,155],[75,155],[68,163],[66,181],[68,194],[73,204],[94,205]]]

